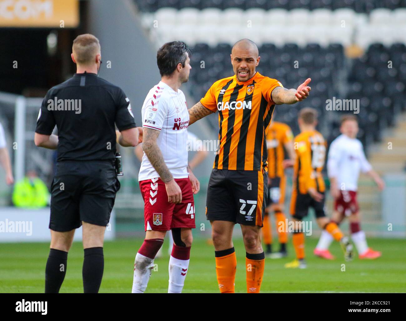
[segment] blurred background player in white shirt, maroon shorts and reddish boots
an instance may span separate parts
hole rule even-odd
[[[330,145],[327,160],[330,193],[334,197],[332,221],[338,225],[345,217],[348,217],[351,238],[359,258],[375,259],[381,256],[381,252],[368,247],[365,232],[361,230],[360,226],[361,217],[356,195],[359,172],[362,171],[369,175],[380,191],[384,189],[385,184],[365,158],[361,141],[356,139],[358,133],[356,116],[343,116],[340,132],[341,135]],[[332,241],[331,235],[323,231],[319,243],[314,249],[314,254],[329,260],[334,259],[334,256],[328,251]]]

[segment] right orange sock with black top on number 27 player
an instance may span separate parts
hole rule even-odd
[[[259,293],[265,267],[265,254],[246,254],[247,293]]]

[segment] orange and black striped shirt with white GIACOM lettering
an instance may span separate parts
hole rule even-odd
[[[213,112],[218,110],[220,146],[213,168],[268,170],[266,130],[275,107],[271,93],[276,87],[283,86],[259,72],[245,82],[234,75],[210,87],[200,102]]]

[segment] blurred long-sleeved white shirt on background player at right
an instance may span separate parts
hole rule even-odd
[[[327,160],[328,177],[337,178],[339,189],[356,191],[359,172],[366,173],[371,169],[358,139],[341,134],[331,143]]]

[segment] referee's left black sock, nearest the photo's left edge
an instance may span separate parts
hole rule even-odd
[[[58,293],[66,274],[68,252],[50,249],[45,266],[45,293]]]

